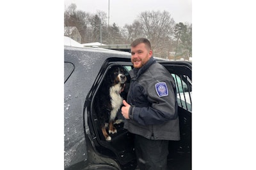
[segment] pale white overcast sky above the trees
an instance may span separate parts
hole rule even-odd
[[[168,11],[176,23],[192,23],[191,0],[65,0],[64,7],[76,4],[77,10],[96,13],[105,11],[108,15],[109,25],[115,22],[118,27],[132,22],[143,11]]]

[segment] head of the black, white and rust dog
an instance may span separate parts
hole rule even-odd
[[[113,84],[124,84],[127,80],[125,76],[125,71],[122,66],[113,66],[108,71],[109,77],[111,79],[111,83]]]

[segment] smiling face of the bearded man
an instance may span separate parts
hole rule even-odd
[[[152,57],[152,50],[146,48],[144,43],[140,43],[135,47],[131,46],[131,62],[134,68],[139,69],[144,66],[150,57]]]

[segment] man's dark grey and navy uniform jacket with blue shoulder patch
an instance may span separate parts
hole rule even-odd
[[[124,128],[147,139],[179,140],[175,82],[164,66],[150,57],[130,71],[127,103],[131,105]]]

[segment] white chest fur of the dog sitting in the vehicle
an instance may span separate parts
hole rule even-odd
[[[111,97],[111,105],[112,105],[112,110],[111,110],[111,115],[110,115],[110,120],[114,120],[116,117],[116,113],[119,110],[123,98],[120,96],[120,90],[121,90],[121,84],[118,83],[112,87],[109,88],[109,94]]]

